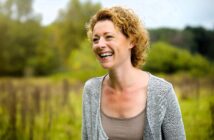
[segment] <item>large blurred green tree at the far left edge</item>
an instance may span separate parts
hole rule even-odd
[[[58,67],[58,50],[50,43],[51,33],[32,16],[31,4],[32,0],[0,3],[1,76],[43,75]]]

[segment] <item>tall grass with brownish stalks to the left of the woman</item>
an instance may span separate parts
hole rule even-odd
[[[80,139],[81,88],[68,80],[1,80],[0,103],[2,140]]]

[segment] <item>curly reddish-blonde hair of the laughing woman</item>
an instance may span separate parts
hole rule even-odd
[[[111,7],[100,9],[86,25],[88,38],[92,39],[92,32],[97,22],[110,20],[121,33],[131,39],[134,47],[131,50],[131,63],[134,67],[140,67],[146,59],[149,46],[149,35],[138,16],[124,7]]]

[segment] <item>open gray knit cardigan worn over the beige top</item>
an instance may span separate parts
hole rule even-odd
[[[185,140],[182,115],[172,85],[149,74],[144,140]],[[104,76],[92,78],[83,90],[83,140],[107,140],[100,117]]]

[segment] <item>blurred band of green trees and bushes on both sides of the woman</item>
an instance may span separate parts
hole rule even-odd
[[[66,72],[66,76],[85,81],[94,76],[95,71],[98,75],[105,72],[92,55],[85,30],[85,24],[100,4],[70,0],[55,22],[43,27],[33,13],[32,3],[32,0],[0,1],[0,76]],[[213,30],[187,27],[149,32],[152,47],[146,70],[213,75],[214,64],[204,58],[213,60]]]

